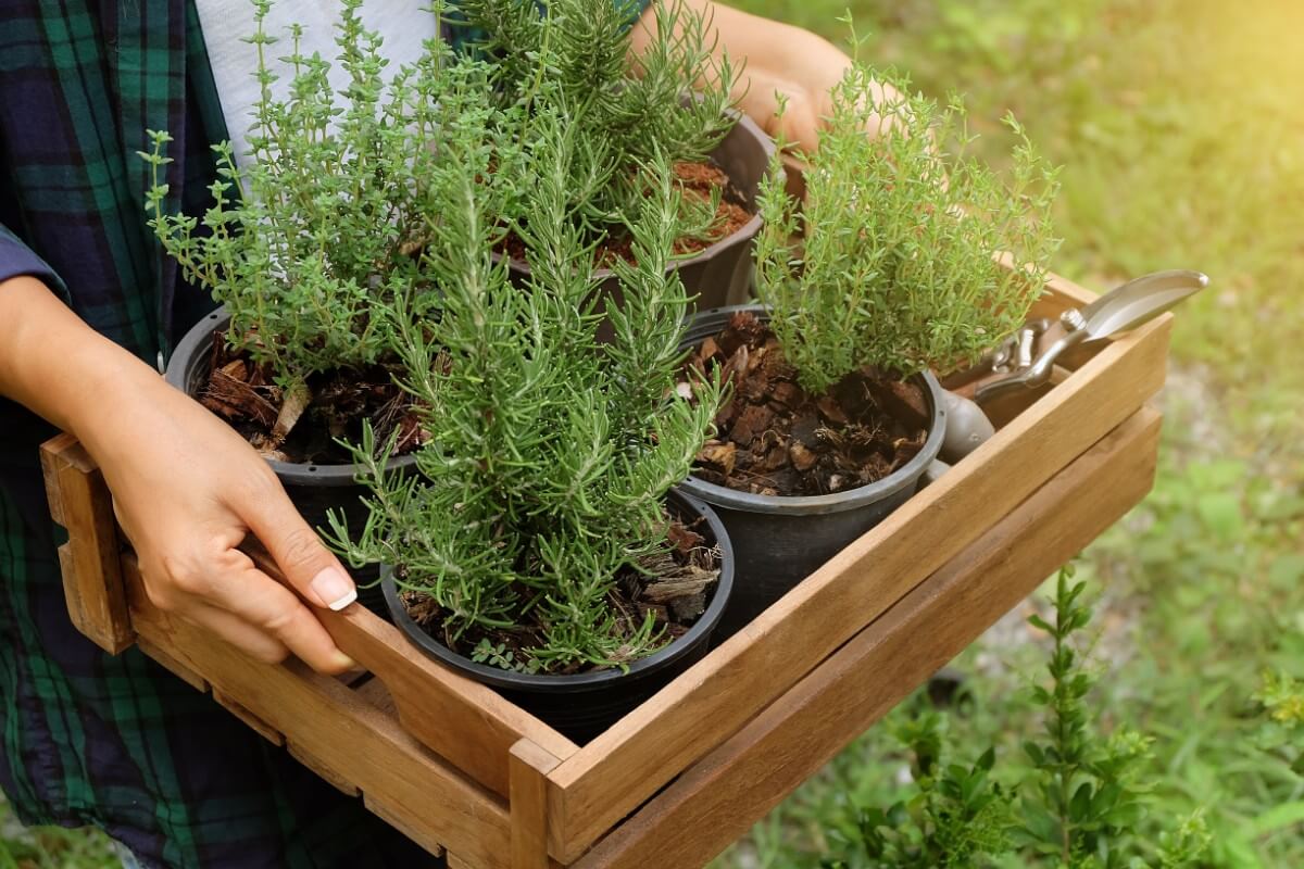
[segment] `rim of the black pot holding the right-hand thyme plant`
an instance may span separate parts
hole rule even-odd
[[[762,315],[762,319],[769,319],[769,311],[764,305],[756,302],[726,305],[692,314],[689,319],[689,328],[691,330],[699,321],[728,317],[743,310],[756,313]],[[685,341],[683,349],[698,343],[700,343],[700,339],[696,341]],[[932,406],[932,425],[928,427],[928,436],[923,442],[923,448],[910,461],[878,482],[828,495],[756,495],[707,482],[691,474],[679,485],[690,494],[716,507],[747,513],[782,513],[790,516],[841,513],[895,495],[918,482],[919,477],[928,469],[928,465],[938,459],[938,453],[941,451],[941,442],[947,434],[947,410],[940,400],[941,384],[938,383],[938,378],[934,377],[932,371],[923,371],[913,375],[910,379],[922,382],[926,387],[925,395]]]

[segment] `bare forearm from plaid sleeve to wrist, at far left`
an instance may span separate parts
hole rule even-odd
[[[35,278],[0,281],[0,395],[83,439],[93,420],[129,413],[125,396],[163,383],[103,337]]]

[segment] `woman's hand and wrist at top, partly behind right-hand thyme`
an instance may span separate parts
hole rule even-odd
[[[717,57],[728,52],[733,63],[746,61],[734,93],[742,111],[767,133],[802,151],[819,147],[819,130],[831,108],[829,91],[842,79],[852,59],[823,36],[801,27],[711,0],[685,0],[685,7],[702,14],[719,33],[713,52]],[[656,9],[649,7],[630,34],[634,53],[642,53],[656,26]],[[786,102],[781,119],[776,116],[776,95]],[[879,96],[882,104],[883,95]],[[880,124],[882,119],[871,119],[866,133],[878,135]]]

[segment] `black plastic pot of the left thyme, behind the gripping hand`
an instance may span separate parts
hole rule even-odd
[[[230,324],[231,317],[224,307],[206,314],[196,323],[177,344],[168,361],[164,374],[167,382],[190,397],[198,397],[211,374],[214,336],[226,334]],[[368,490],[353,479],[357,465],[295,464],[274,459],[269,459],[267,464],[276,473],[276,478],[280,479],[289,500],[313,528],[326,528],[326,513],[331,509],[340,511],[347,517],[349,528],[363,528],[366,522],[368,511],[363,496],[368,494]],[[391,459],[387,468],[415,472],[416,456]],[[374,567],[363,568],[353,571],[353,575],[360,584],[373,582],[377,569]],[[383,597],[379,586],[360,588],[359,598],[366,608],[383,614]]]

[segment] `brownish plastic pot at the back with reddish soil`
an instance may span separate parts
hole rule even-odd
[[[733,186],[742,194],[748,211],[756,210],[756,193],[762,178],[769,167],[775,152],[775,142],[746,115],[738,113],[724,141],[711,152],[711,159],[729,176]],[[698,310],[737,305],[750,298],[751,289],[751,246],[760,231],[760,215],[752,214],[751,220],[735,232],[715,242],[702,253],[677,259],[670,268],[678,270],[689,296],[696,296],[694,306]],[[529,266],[519,259],[510,262],[512,280],[523,283],[529,275]],[[621,288],[609,268],[601,268],[595,276],[599,285],[601,305],[621,304]],[[602,331],[604,337],[609,337]]]

